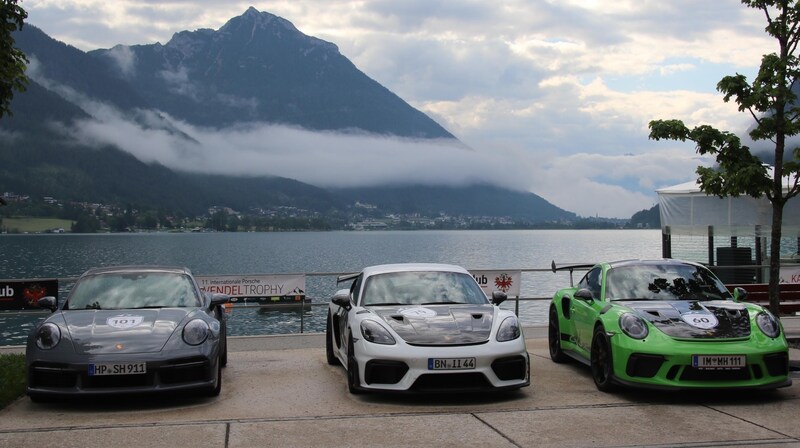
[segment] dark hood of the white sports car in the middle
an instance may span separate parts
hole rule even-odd
[[[420,305],[371,310],[409,344],[464,345],[489,339],[494,306]]]

